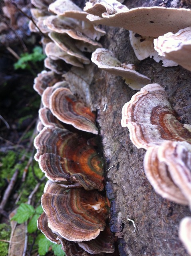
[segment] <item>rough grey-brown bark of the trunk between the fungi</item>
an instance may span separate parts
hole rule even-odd
[[[181,1],[175,0],[128,0],[124,3],[129,8],[181,6]],[[127,30],[105,29],[107,35],[102,39],[103,47],[113,51],[121,62],[135,64],[136,70],[151,78],[153,83],[161,84],[180,122],[191,124],[191,73],[181,66],[165,68],[153,59],[138,61],[129,43]],[[191,215],[189,208],[169,202],[155,193],[143,170],[145,150],[133,146],[128,129],[120,124],[122,106],[136,91],[128,88],[121,77],[98,70],[96,66],[94,71],[92,101],[98,110],[97,122],[106,160],[111,230],[119,238],[120,255],[187,255],[179,240],[178,229],[180,220]],[[133,222],[128,218],[134,221],[135,232]]]

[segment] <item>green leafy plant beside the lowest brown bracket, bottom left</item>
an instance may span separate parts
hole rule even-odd
[[[28,233],[31,234],[31,233],[35,232],[36,230],[38,230],[37,220],[38,220],[40,214],[42,214],[42,212],[43,212],[43,209],[42,209],[41,205],[35,209],[32,205],[22,203],[18,207],[17,212],[14,215],[14,217],[12,218],[12,220],[15,220],[19,224],[29,220],[27,228],[28,228]],[[55,256],[65,256],[65,253],[62,250],[61,244],[54,244],[54,243],[50,242],[44,236],[44,234],[42,234],[40,232],[39,232],[38,236],[36,237],[36,243],[38,244],[39,255],[42,255],[42,256],[45,255],[51,246]]]

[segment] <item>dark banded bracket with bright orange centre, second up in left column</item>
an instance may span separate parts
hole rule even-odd
[[[49,180],[103,190],[103,161],[85,138],[53,126],[44,128],[34,145],[35,159]]]

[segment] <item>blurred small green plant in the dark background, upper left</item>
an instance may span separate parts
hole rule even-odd
[[[45,58],[46,55],[43,54],[42,48],[40,46],[36,46],[34,47],[32,53],[25,52],[20,55],[20,59],[16,63],[14,63],[14,69],[27,69],[34,73],[30,63],[32,63],[33,66],[38,69],[36,62],[42,61]]]

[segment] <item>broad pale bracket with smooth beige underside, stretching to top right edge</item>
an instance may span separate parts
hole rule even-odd
[[[141,36],[158,37],[169,31],[176,33],[190,26],[191,10],[157,6],[138,7],[111,15],[103,13],[101,18],[88,14],[87,18],[95,24],[122,27]]]

